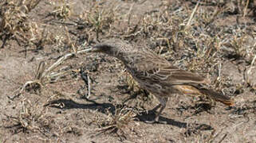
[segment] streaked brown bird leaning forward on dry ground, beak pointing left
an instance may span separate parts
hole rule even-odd
[[[159,122],[160,114],[166,107],[169,97],[175,94],[206,95],[215,101],[223,102],[226,106],[234,106],[234,99],[206,88],[208,79],[175,67],[147,47],[139,48],[127,41],[114,38],[94,45],[91,52],[101,52],[120,60],[140,87],[159,100],[160,104],[153,108],[156,117],[151,122]]]

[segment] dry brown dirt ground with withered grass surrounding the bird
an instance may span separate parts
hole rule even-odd
[[[256,2],[198,4],[1,2],[0,143],[256,142]],[[211,79],[235,105],[174,95],[160,116],[167,124],[145,122],[159,102],[120,61],[77,53],[112,37]]]

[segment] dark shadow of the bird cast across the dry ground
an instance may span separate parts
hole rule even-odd
[[[62,110],[69,110],[69,109],[89,109],[89,110],[97,110],[103,114],[107,114],[107,110],[110,111],[112,114],[115,114],[116,108],[118,106],[114,106],[112,103],[97,103],[93,100],[86,99],[88,102],[92,102],[89,104],[83,104],[73,101],[72,99],[56,99],[49,101],[45,106],[51,106],[53,108],[58,108]],[[59,106],[60,104],[63,104],[64,106]],[[122,105],[119,105],[122,106]],[[138,114],[136,118],[140,122],[146,122],[146,121],[152,121],[156,114],[152,113],[153,111],[142,112],[141,114]],[[164,123],[163,123],[164,122]],[[155,123],[154,123],[155,124]],[[164,118],[160,116],[160,122],[156,122],[156,124],[166,124],[171,126],[177,126],[179,128],[187,128],[186,122],[179,122],[175,121],[170,118]],[[206,124],[196,124],[195,126],[204,126],[204,130],[210,130],[213,129],[211,126],[208,126]]]

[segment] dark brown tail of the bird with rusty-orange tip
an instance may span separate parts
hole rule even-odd
[[[209,89],[199,89],[199,91],[202,92],[203,95],[207,95],[215,101],[222,102],[226,106],[234,106],[234,99],[231,99],[230,97],[223,95],[222,93],[218,93]]]

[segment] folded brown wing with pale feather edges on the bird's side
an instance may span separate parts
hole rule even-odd
[[[207,83],[202,76],[180,70],[160,56],[145,59],[135,64],[136,76],[140,79],[166,84]]]

